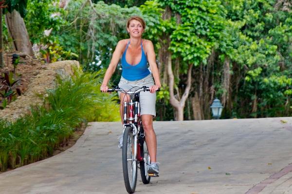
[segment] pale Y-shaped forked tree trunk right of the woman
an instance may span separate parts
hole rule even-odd
[[[181,97],[181,100],[179,101],[175,95],[174,95],[174,75],[172,71],[172,63],[171,63],[171,54],[168,52],[167,55],[167,74],[168,74],[168,86],[169,86],[169,95],[170,95],[170,104],[175,108],[176,110],[176,117],[175,120],[177,121],[183,121],[183,108],[185,105],[185,101],[189,95],[189,91],[191,89],[191,81],[192,81],[192,68],[193,64],[190,64],[187,71],[187,81],[186,81],[186,87],[183,93],[183,96]]]

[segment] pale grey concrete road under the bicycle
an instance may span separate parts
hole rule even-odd
[[[160,177],[137,194],[292,194],[292,117],[154,122]],[[0,194],[126,194],[120,123],[91,123],[70,149],[0,174]]]

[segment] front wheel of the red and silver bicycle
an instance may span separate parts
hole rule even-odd
[[[125,186],[129,194],[135,192],[137,183],[137,160],[134,154],[135,147],[133,128],[127,127],[123,137],[122,160]]]

